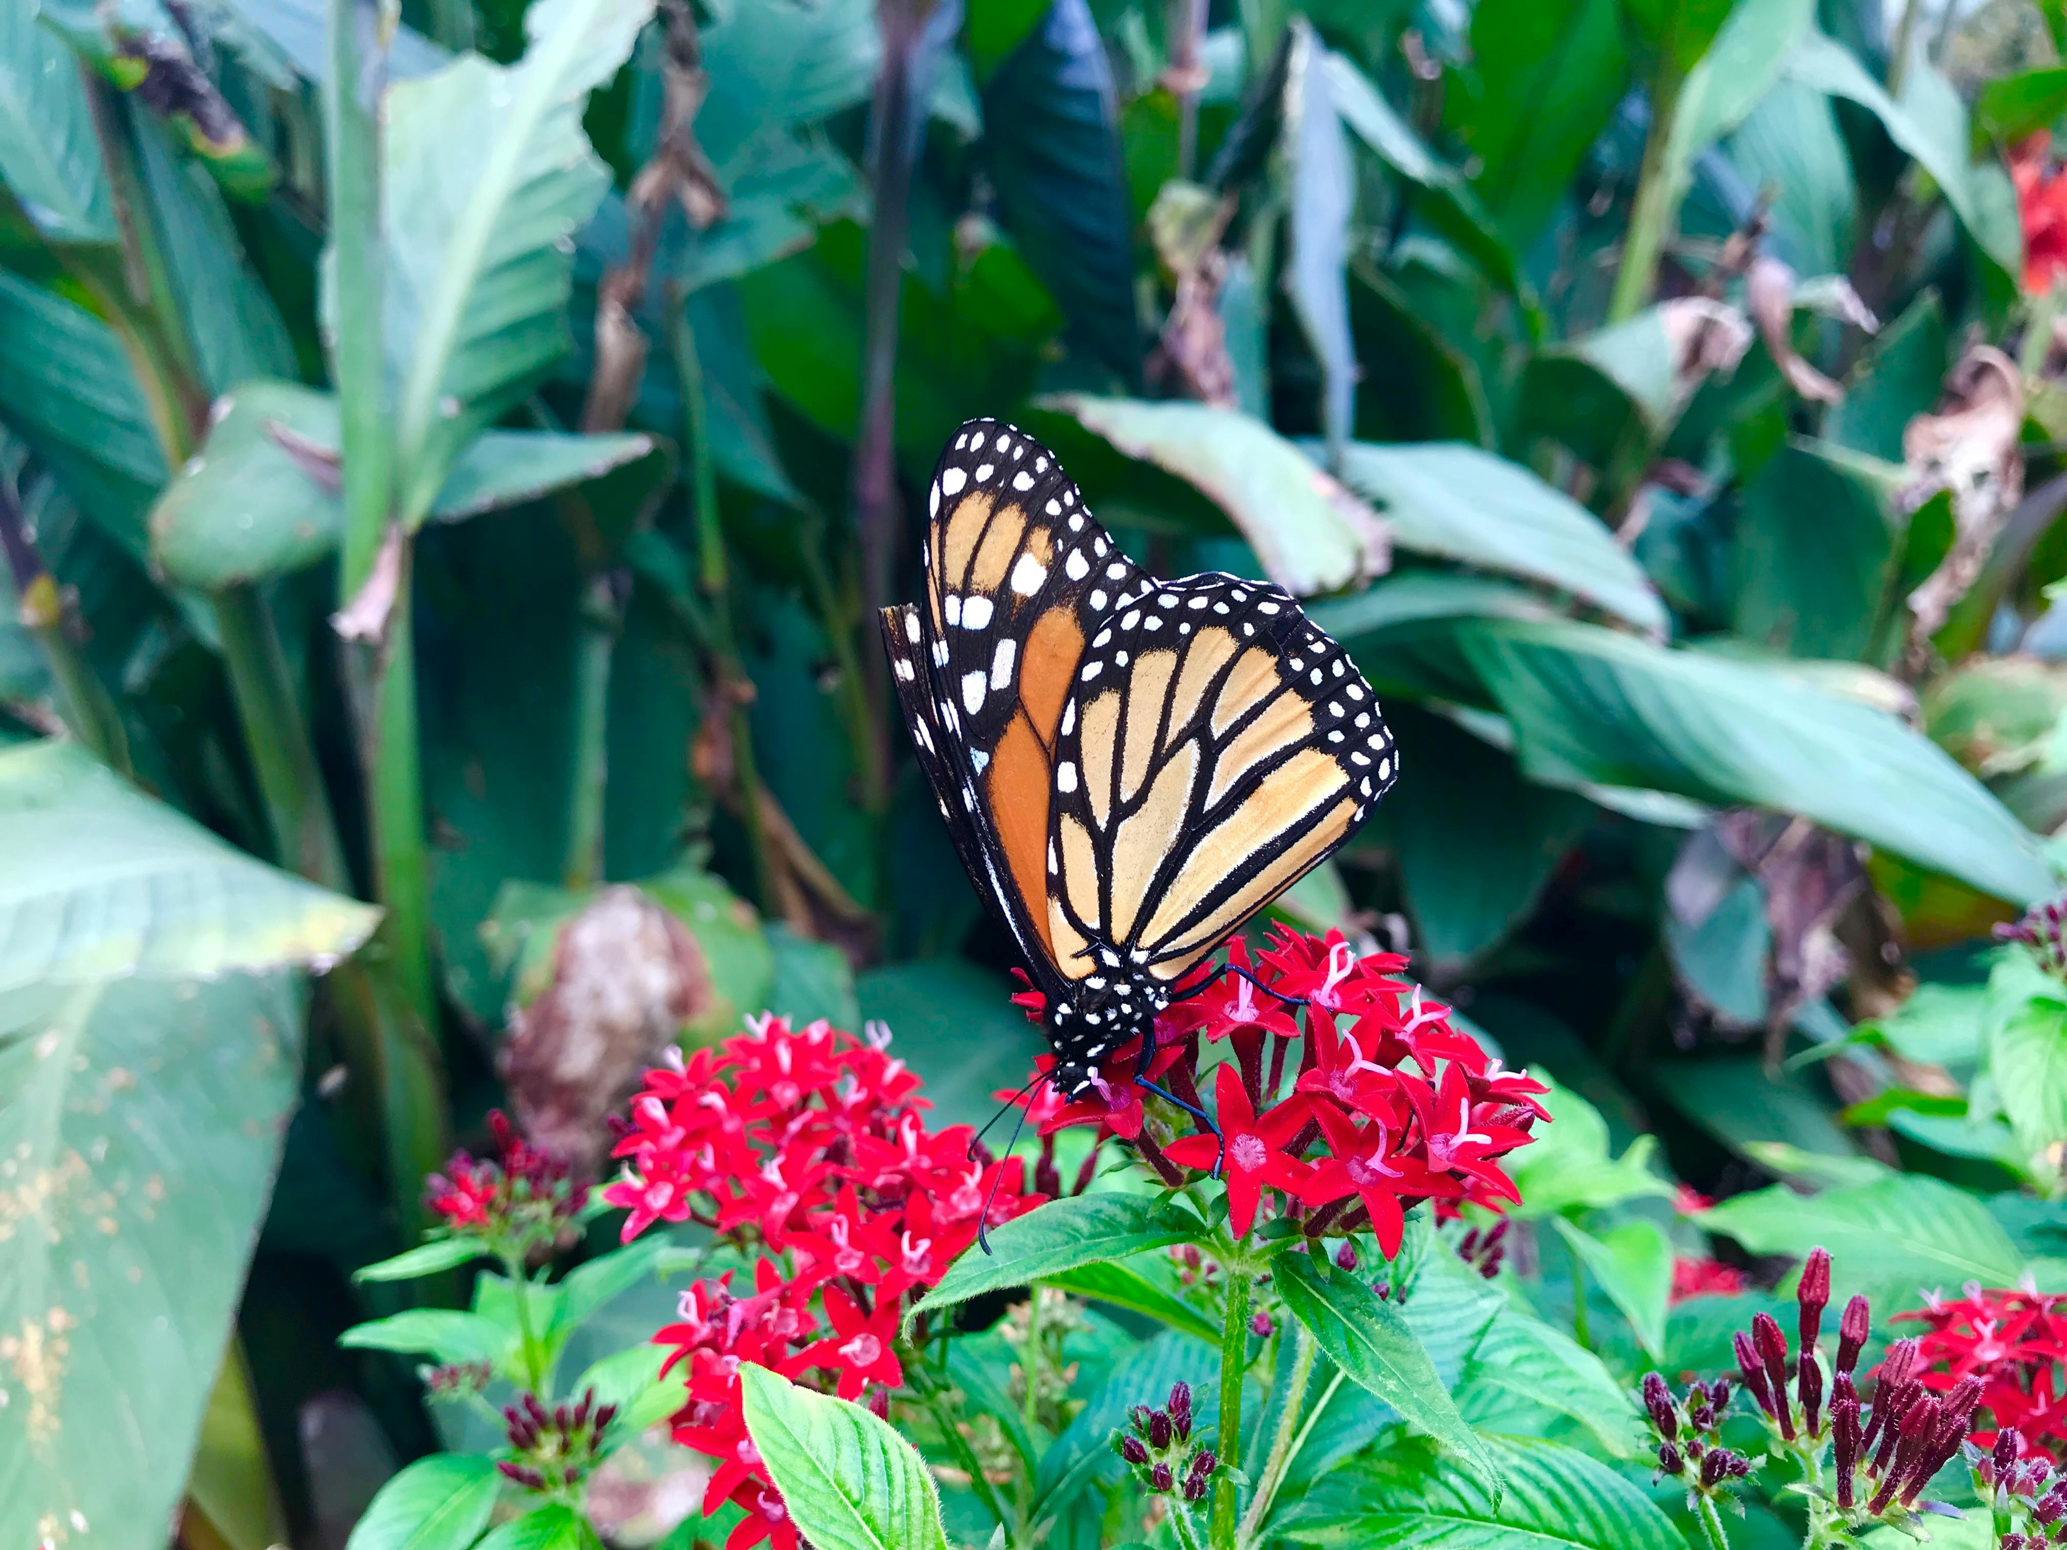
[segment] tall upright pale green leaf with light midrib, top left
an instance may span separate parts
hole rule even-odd
[[[387,366],[401,513],[566,349],[575,229],[608,188],[581,114],[653,0],[542,0],[511,66],[465,56],[387,95]]]

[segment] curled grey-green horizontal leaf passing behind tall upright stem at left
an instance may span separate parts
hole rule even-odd
[[[339,442],[329,393],[260,378],[217,399],[209,440],[151,508],[153,558],[182,585],[217,591],[333,554],[345,525]],[[620,469],[610,494],[630,517],[666,479],[668,453],[639,434],[490,430],[461,451],[428,517],[475,517]]]

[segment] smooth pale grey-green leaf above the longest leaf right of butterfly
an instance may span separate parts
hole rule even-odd
[[[1356,442],[1341,477],[1379,502],[1401,550],[1542,581],[1641,630],[1666,628],[1664,603],[1629,550],[1519,463],[1461,444]]]

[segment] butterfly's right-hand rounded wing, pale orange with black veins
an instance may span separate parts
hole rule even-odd
[[[1056,961],[1174,982],[1348,839],[1397,775],[1370,684],[1286,591],[1143,579],[1091,632],[1062,707]]]

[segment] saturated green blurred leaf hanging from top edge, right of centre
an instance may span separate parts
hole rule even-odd
[[[1443,116],[1478,157],[1478,196],[1525,250],[1627,89],[1618,4],[1482,0],[1470,60],[1443,93]]]

